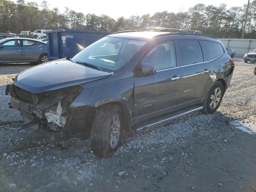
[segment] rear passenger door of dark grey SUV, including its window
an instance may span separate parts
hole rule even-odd
[[[210,62],[206,62],[198,40],[178,40],[182,63],[182,86],[179,108],[200,104],[211,84]],[[206,92],[207,91],[207,92]]]

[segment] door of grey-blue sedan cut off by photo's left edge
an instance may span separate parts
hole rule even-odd
[[[6,62],[18,62],[22,60],[21,56],[21,41],[20,40],[8,40],[2,45],[4,48],[0,49],[0,60]]]

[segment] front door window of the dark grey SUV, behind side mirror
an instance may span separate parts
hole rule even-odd
[[[176,67],[174,42],[164,42],[155,46],[142,62],[151,64],[155,70]]]

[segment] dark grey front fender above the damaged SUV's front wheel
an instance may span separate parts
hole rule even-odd
[[[132,116],[134,90],[133,77],[104,83],[98,81],[84,84],[82,87],[82,92],[70,104],[70,109],[80,106],[92,106],[97,108],[106,103],[120,102],[127,107]]]

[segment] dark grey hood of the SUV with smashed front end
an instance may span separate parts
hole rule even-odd
[[[14,84],[32,93],[42,93],[100,80],[110,75],[111,73],[61,59],[22,71],[15,78]]]

